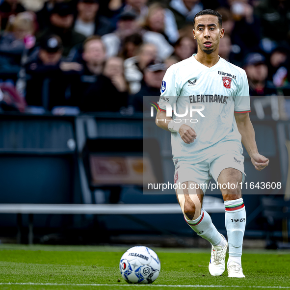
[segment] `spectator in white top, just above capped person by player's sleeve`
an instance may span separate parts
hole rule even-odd
[[[125,60],[125,77],[129,82],[131,94],[136,94],[140,90],[144,69],[156,58],[157,48],[155,45],[147,43],[140,47],[137,56]]]

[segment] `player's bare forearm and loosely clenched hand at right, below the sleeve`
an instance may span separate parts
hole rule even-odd
[[[237,129],[242,137],[242,143],[245,146],[251,161],[255,168],[259,171],[264,169],[269,164],[269,159],[259,154],[256,140],[255,131],[249,117],[249,113],[235,113],[237,122]]]

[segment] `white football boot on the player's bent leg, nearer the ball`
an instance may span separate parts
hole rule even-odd
[[[221,276],[226,269],[226,253],[228,242],[222,234],[221,237],[226,241],[226,244],[223,248],[221,246],[218,247],[211,245],[211,260],[209,264],[209,271],[211,276]]]

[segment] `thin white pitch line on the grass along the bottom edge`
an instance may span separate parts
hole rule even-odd
[[[0,285],[33,285],[33,286],[120,286],[120,287],[175,287],[175,288],[262,288],[290,289],[288,286],[237,286],[237,285],[158,285],[158,284],[65,284],[65,283],[0,283]]]

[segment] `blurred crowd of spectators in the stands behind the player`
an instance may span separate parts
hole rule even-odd
[[[0,110],[140,112],[197,52],[203,9],[222,15],[219,55],[245,69],[251,114],[289,119],[289,0],[2,0]]]

